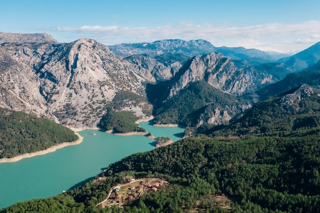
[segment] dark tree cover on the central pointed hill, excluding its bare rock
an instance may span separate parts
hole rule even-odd
[[[232,110],[227,110],[228,114],[235,115],[241,112],[237,106],[244,104],[244,101],[238,101],[232,94],[222,92],[207,82],[197,81],[154,107],[154,123],[195,126],[200,114],[210,104],[220,109],[230,106]]]

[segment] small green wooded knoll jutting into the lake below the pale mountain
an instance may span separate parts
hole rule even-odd
[[[138,120],[130,111],[108,111],[102,116],[98,126],[101,129],[113,130],[114,133],[144,132],[145,129],[134,122]]]

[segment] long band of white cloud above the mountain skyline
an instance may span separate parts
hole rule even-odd
[[[154,40],[205,39],[215,46],[244,46],[265,51],[300,51],[320,41],[320,21],[302,23],[267,23],[265,25],[228,27],[211,23],[194,25],[180,22],[178,25],[160,27],[82,26],[59,27],[59,32],[68,32],[89,37],[105,44],[151,42]]]

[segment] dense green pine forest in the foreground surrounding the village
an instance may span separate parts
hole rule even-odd
[[[0,212],[319,212],[319,153],[318,135],[189,137],[109,165],[106,180]],[[97,206],[127,177],[170,184],[123,208]]]

